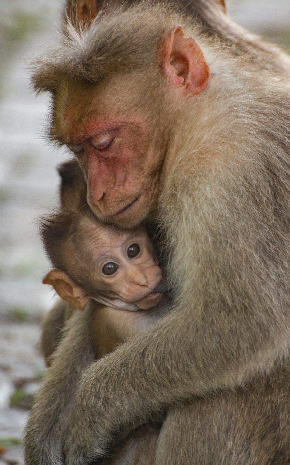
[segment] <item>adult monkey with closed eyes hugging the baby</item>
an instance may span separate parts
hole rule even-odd
[[[35,70],[91,208],[127,227],[158,219],[177,293],[168,316],[84,373],[68,465],[156,411],[158,465],[290,461],[290,82],[263,56],[235,57],[170,8],[140,7],[72,33]],[[36,405],[28,464],[41,463],[29,443],[40,417]]]

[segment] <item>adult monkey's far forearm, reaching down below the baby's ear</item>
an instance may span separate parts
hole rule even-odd
[[[91,311],[75,311],[37,395],[27,423],[27,465],[63,464],[63,432],[74,403],[81,371],[94,360],[89,337]]]

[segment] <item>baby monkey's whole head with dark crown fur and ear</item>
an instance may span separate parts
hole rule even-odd
[[[43,282],[81,310],[89,298],[128,310],[160,300],[162,272],[145,227],[105,225],[85,205],[43,218],[40,233],[54,267]]]

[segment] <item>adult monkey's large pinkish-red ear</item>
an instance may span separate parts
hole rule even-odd
[[[171,29],[162,47],[162,67],[175,87],[183,87],[192,97],[208,85],[209,66],[201,48],[192,37],[185,37],[181,26]]]

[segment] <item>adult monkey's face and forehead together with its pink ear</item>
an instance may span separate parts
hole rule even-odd
[[[176,116],[209,81],[202,51],[182,27],[151,48],[145,69],[142,57],[142,69],[116,73],[115,65],[105,77],[94,75],[97,83],[62,70],[54,85],[52,138],[79,160],[96,216],[122,227],[136,226],[158,205]]]

